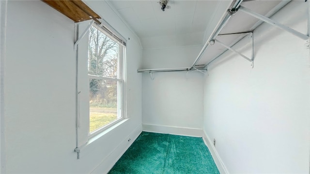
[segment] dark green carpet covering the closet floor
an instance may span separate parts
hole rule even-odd
[[[219,174],[202,138],[142,132],[109,174]]]

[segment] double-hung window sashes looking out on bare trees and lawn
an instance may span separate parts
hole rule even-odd
[[[89,135],[124,118],[125,44],[104,27],[89,30]]]

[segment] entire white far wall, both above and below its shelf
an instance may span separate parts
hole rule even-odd
[[[202,46],[143,50],[143,69],[190,67]],[[202,135],[203,74],[200,72],[142,75],[144,131]]]

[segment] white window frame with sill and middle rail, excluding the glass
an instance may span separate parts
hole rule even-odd
[[[75,42],[78,41],[75,47],[77,56],[77,148],[83,147],[88,143],[93,142],[95,139],[101,137],[109,131],[113,126],[119,125],[118,123],[127,118],[126,107],[126,40],[115,29],[109,26],[106,21],[99,26],[100,31],[109,36],[113,41],[118,43],[119,46],[119,59],[118,59],[118,77],[110,78],[103,76],[95,76],[88,74],[88,44],[89,44],[89,22],[80,22],[75,25]],[[109,30],[108,30],[109,29]],[[86,32],[87,31],[87,32]],[[85,37],[84,32],[86,32]],[[82,33],[82,34],[79,34]],[[97,78],[103,80],[117,81],[118,84],[118,115],[121,118],[112,121],[111,123],[103,126],[102,128],[90,133],[90,89],[89,79]],[[119,113],[120,112],[120,113]],[[98,136],[97,136],[98,135]]]

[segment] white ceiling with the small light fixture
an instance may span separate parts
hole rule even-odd
[[[143,48],[201,45],[219,0],[110,0],[140,37]],[[160,42],[165,40],[165,42]]]

